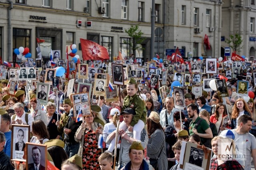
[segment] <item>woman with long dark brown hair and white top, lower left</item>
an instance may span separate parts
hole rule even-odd
[[[32,122],[32,133],[31,143],[44,144],[46,141],[49,141],[50,135],[42,120]]]

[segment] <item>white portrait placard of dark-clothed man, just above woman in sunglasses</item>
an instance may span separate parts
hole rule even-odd
[[[36,84],[36,96],[40,100],[41,104],[47,105],[48,95],[50,91],[50,84],[40,83]]]

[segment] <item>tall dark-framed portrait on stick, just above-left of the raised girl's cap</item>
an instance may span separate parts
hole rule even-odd
[[[113,84],[124,85],[123,65],[112,63]]]

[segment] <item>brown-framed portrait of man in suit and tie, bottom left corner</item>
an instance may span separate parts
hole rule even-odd
[[[47,146],[35,143],[26,143],[26,167],[28,170],[47,169]]]

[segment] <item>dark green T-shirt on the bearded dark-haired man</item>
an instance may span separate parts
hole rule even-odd
[[[196,123],[198,122],[198,120],[200,119],[200,117],[198,116],[198,118],[196,119],[196,121],[192,121],[190,124],[190,129],[189,129],[189,134],[190,136],[193,135],[193,129],[196,125]],[[206,129],[210,128],[210,126],[208,125],[208,123],[206,122],[206,120],[202,119],[202,121],[200,122],[200,124],[198,125],[198,127],[196,128],[198,133],[205,133]],[[201,143],[204,144],[206,142],[206,138],[204,137],[200,137],[201,138]]]

